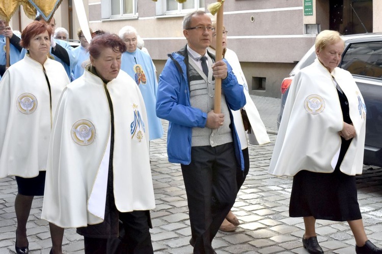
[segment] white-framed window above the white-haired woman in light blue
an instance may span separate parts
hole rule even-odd
[[[138,0],[101,0],[102,19],[128,18],[137,15]]]

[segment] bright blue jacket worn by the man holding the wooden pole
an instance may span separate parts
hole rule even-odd
[[[215,58],[210,54],[210,57]],[[156,95],[156,115],[169,121],[167,135],[167,153],[169,162],[188,165],[191,162],[192,128],[204,128],[207,121],[207,112],[191,107],[189,101],[188,84],[188,55],[187,47],[168,55],[163,71],[159,76],[158,91]],[[238,110],[245,105],[245,96],[242,87],[237,83],[231,66],[224,59],[228,68],[228,76],[222,80],[229,109]],[[234,126],[233,116],[230,112],[231,130],[235,146],[235,155],[238,165],[243,170],[244,161],[240,148],[240,141]]]

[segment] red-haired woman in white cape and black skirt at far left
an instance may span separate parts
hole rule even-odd
[[[14,175],[16,253],[28,253],[26,238],[34,196],[44,195],[45,170],[54,112],[69,78],[62,65],[47,57],[51,29],[33,21],[22,31],[28,50],[0,83],[0,177]],[[54,234],[54,233],[53,233]]]

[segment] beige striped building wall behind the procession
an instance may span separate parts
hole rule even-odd
[[[68,1],[63,0],[54,17],[57,26],[68,28]],[[138,15],[123,19],[102,18],[103,0],[83,0],[89,26],[118,34],[125,25],[137,28],[145,41],[160,74],[167,54],[186,44],[181,22],[184,14],[157,15],[157,3],[138,0]],[[316,34],[307,34],[306,25],[318,25],[320,30],[329,28],[329,1],[313,0],[313,15],[304,16],[303,0],[249,0],[226,1],[224,23],[229,31],[228,48],[234,50],[252,88],[252,94],[280,97],[280,85],[295,64],[314,44]],[[205,6],[215,0],[205,0]],[[206,12],[207,8],[205,9]],[[73,38],[79,28],[73,5]],[[212,17],[212,16],[211,16]],[[212,17],[213,18],[213,17]],[[21,20],[21,22],[19,22]],[[11,25],[25,27],[31,20],[21,14]],[[21,23],[21,24],[20,24]],[[373,31],[382,31],[382,1],[373,0]],[[260,85],[259,85],[260,84]]]

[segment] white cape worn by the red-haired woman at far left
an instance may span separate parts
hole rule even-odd
[[[0,82],[0,178],[31,178],[46,169],[54,112],[67,84],[59,62],[47,58],[42,66],[29,54],[5,72]]]

